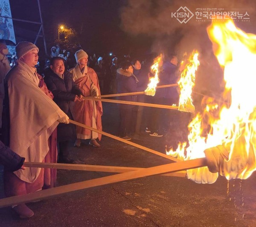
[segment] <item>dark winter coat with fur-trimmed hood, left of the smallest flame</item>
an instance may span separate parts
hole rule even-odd
[[[126,72],[123,69],[117,69],[116,71],[116,81],[117,81],[117,93],[127,93],[127,92],[137,92],[138,79],[131,73]],[[137,101],[137,95],[125,95],[120,96],[119,100],[124,101]],[[133,105],[121,104],[122,109],[131,109]]]

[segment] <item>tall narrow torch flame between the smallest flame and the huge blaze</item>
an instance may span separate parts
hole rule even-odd
[[[184,63],[183,63],[184,64]],[[189,110],[194,112],[195,106],[192,103],[192,88],[195,86],[195,72],[198,69],[200,62],[198,60],[198,51],[194,50],[189,56],[188,63],[180,75],[178,85],[180,87],[179,110]]]

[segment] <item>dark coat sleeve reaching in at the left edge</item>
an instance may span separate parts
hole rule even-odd
[[[0,164],[3,165],[6,170],[12,172],[19,170],[24,161],[25,158],[21,158],[20,155],[17,155],[0,141]]]

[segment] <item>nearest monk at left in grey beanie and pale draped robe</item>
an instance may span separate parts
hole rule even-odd
[[[26,161],[44,162],[49,152],[48,139],[59,122],[69,123],[67,115],[39,87],[40,78],[34,67],[38,48],[30,42],[16,46],[17,65],[6,75],[6,98],[9,107],[9,141],[7,145]],[[9,142],[9,143],[8,143]],[[5,171],[6,196],[24,195],[41,190],[44,169],[26,168]],[[49,179],[47,179],[49,182]],[[26,204],[14,206],[20,218],[34,215]]]

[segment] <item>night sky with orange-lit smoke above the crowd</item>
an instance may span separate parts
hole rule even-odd
[[[180,6],[195,12],[198,7],[248,11],[250,22],[238,22],[246,32],[256,33],[254,0],[40,0],[47,49],[58,37],[58,26],[67,25],[79,33],[80,45],[89,55],[113,52],[118,57],[146,56],[151,52],[172,52],[183,56],[198,48],[211,50],[206,28],[210,22],[195,17],[180,24],[171,17]],[[40,21],[37,0],[10,0],[12,17]],[[35,41],[38,25],[13,21],[16,41]],[[25,29],[25,30],[24,30]],[[37,45],[43,51],[43,41]],[[205,56],[208,57],[208,56]]]

